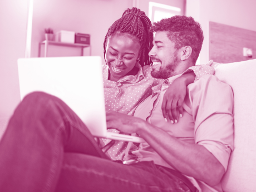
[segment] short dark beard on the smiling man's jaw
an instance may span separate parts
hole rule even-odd
[[[161,64],[159,64],[159,65],[161,65]],[[175,75],[178,75],[178,73],[175,72],[175,69],[178,65],[179,65],[178,57],[175,56],[173,62],[169,63],[169,65],[164,68],[162,68],[162,66],[160,66],[159,71],[157,71],[155,68],[153,68],[151,71],[151,76],[154,78],[166,79],[166,78],[170,78]]]

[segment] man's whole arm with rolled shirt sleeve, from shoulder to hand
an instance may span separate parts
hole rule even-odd
[[[190,85],[188,94],[195,144],[176,139],[140,118],[118,113],[107,115],[107,127],[136,132],[173,168],[213,186],[225,173],[233,149],[232,89],[215,76],[204,76]]]

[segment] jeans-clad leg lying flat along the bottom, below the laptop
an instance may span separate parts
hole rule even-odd
[[[65,153],[56,192],[190,191],[181,180],[157,169],[152,161],[138,164],[124,165],[91,155]]]

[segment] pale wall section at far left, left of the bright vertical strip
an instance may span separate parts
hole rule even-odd
[[[20,101],[17,59],[24,57],[28,0],[0,1],[0,118]]]

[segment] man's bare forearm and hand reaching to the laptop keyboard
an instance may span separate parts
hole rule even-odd
[[[136,132],[173,168],[210,186],[218,184],[225,173],[223,165],[204,146],[176,139],[140,118],[110,112],[107,127]]]

